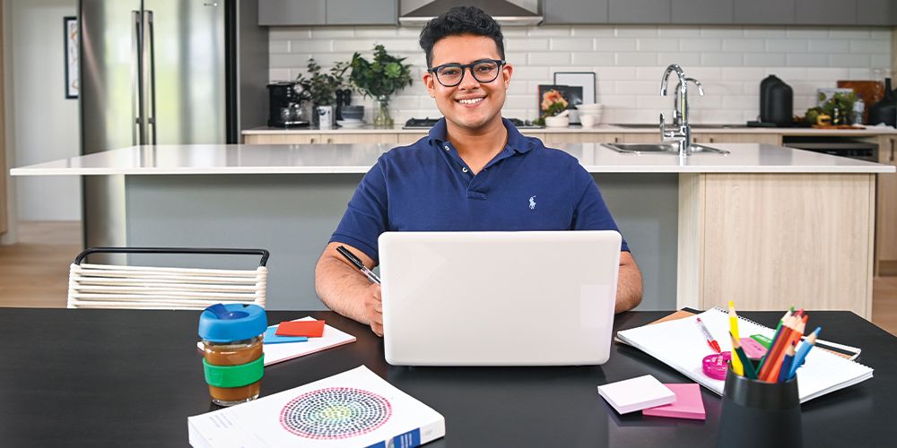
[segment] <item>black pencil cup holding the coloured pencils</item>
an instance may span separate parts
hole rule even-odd
[[[797,376],[785,383],[766,383],[736,375],[730,367],[723,388],[717,446],[803,444]]]

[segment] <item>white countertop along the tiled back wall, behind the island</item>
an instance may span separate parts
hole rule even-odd
[[[243,130],[243,135],[264,134],[427,134],[429,128],[402,129],[402,125],[379,128],[364,125],[357,128],[317,129],[256,127]],[[522,134],[660,134],[657,125],[597,125],[591,128],[581,126],[520,128]],[[781,134],[817,135],[842,137],[869,137],[873,135],[897,134],[891,126],[866,126],[865,129],[814,129],[812,127],[747,127],[745,125],[692,125],[692,134]]]

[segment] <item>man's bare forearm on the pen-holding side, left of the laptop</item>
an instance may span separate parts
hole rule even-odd
[[[369,323],[364,313],[364,295],[370,287],[361,272],[332,257],[318,262],[315,268],[315,291],[318,297],[336,313]]]

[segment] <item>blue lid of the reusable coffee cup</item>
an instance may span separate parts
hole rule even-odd
[[[252,339],[267,327],[265,308],[257,305],[218,304],[199,315],[199,337],[213,342]]]

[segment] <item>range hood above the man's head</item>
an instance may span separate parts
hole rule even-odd
[[[528,26],[542,23],[542,16],[506,0],[434,0],[398,18],[403,25],[422,26],[455,6],[476,6],[500,25]]]

